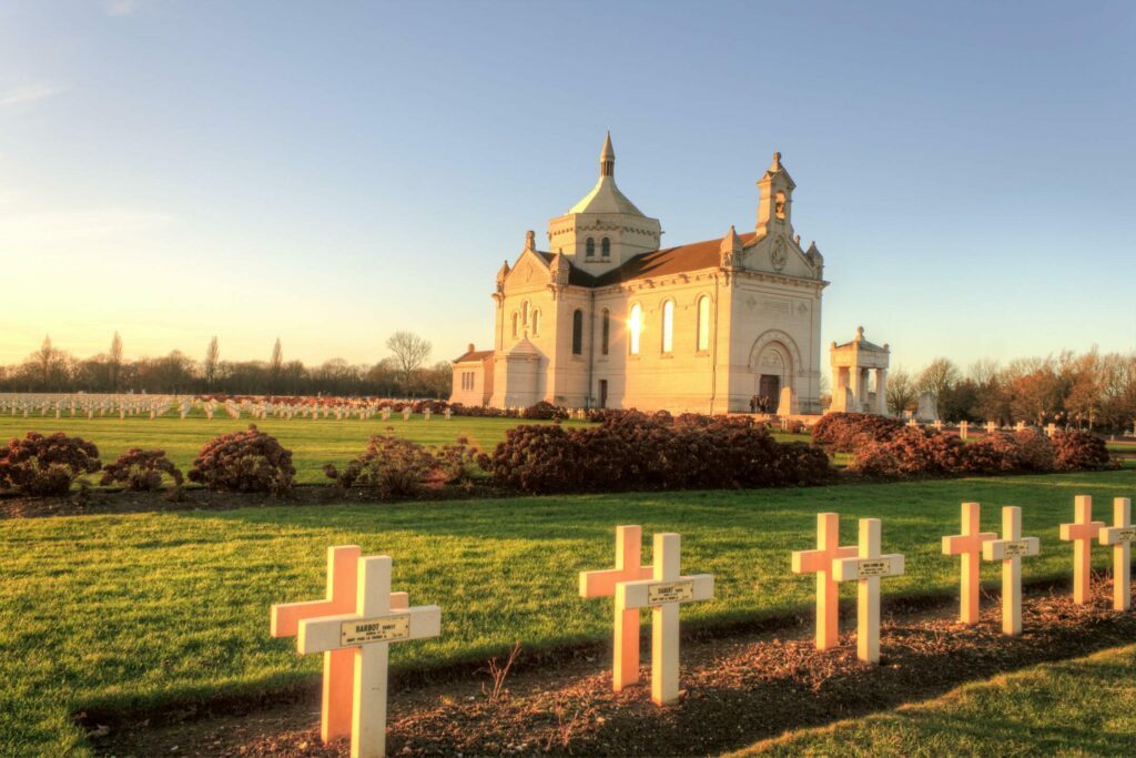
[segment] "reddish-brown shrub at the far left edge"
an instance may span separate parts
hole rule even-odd
[[[28,432],[0,448],[0,489],[33,497],[67,494],[84,474],[99,470],[99,449],[82,438]]]

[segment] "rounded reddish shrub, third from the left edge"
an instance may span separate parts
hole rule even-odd
[[[206,443],[190,469],[190,481],[226,492],[284,494],[292,489],[292,451],[254,424],[247,432],[222,434]]]

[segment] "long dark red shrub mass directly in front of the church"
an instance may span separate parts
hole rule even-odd
[[[832,469],[822,450],[779,444],[750,418],[640,411],[603,415],[587,428],[518,426],[482,465],[526,492],[586,492],[816,484]]]

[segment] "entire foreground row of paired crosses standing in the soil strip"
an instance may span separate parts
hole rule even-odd
[[[1061,539],[1075,543],[1074,600],[1088,598],[1089,545],[1113,549],[1113,607],[1130,605],[1131,501],[1117,498],[1113,526],[1092,518],[1092,498],[1078,497],[1076,519],[1061,525]],[[1021,536],[1021,509],[1002,509],[1002,539],[979,531],[980,507],[962,505],[962,534],[943,538],[943,552],[960,556],[960,620],[971,625],[979,614],[979,557],[1002,561],[1002,630],[1021,633],[1021,559],[1041,550],[1037,538]],[[861,518],[857,545],[840,544],[840,515],[818,514],[817,548],[793,552],[793,572],[816,574],[816,645],[840,642],[840,582],[857,582],[857,657],[879,663],[879,581],[904,573],[904,557],[880,552],[878,518]],[[651,700],[677,702],[679,690],[679,606],[713,598],[713,576],[683,575],[680,536],[654,535],[653,559],[642,565],[643,530],[616,527],[615,568],[580,572],[582,598],[612,598],[615,639],[611,685],[616,692],[638,682],[640,611],[651,609]],[[327,555],[327,597],[312,602],[272,607],[272,635],[295,636],[300,653],[324,653],[320,736],[325,742],[350,734],[352,758],[386,752],[387,664],[391,642],[441,634],[437,606],[411,607],[404,592],[391,592],[391,559],[361,557],[357,545]]]

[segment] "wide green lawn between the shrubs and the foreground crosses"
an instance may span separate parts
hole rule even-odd
[[[999,506],[1022,507],[1024,533],[1042,540],[1042,555],[1025,561],[1029,581],[1069,576],[1072,548],[1058,541],[1058,526],[1071,520],[1075,494],[1094,495],[1096,517],[1106,519],[1113,497],[1134,493],[1136,470],[1127,468],[0,520],[0,755],[83,755],[77,710],[128,713],[309,684],[320,657],[270,639],[268,607],[323,597],[333,544],[391,555],[394,589],[412,603],[442,606],[441,638],[392,647],[395,669],[421,670],[482,661],[515,640],[528,651],[605,640],[611,603],[578,599],[577,572],[612,564],[617,524],[680,533],[684,570],[716,575],[715,600],[684,608],[685,628],[804,614],[794,626],[804,635],[813,578],[790,573],[790,552],[815,544],[818,511],[844,516],[845,543],[854,542],[854,518],[883,518],[884,551],[905,553],[908,566],[883,583],[885,598],[950,595],[958,561],[939,553],[939,539],[959,531],[961,501],[983,502],[991,531]],[[1094,560],[1103,568],[1109,555],[1096,549]],[[996,588],[999,567],[983,572]],[[852,586],[844,592],[854,597]]]

